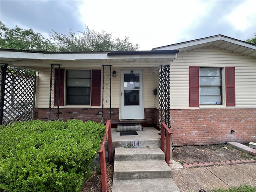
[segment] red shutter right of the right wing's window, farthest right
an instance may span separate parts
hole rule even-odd
[[[226,67],[226,106],[236,106],[235,68]]]

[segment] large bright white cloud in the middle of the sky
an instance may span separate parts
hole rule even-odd
[[[89,28],[120,38],[128,36],[140,44],[140,50],[150,50],[174,43],[181,31],[206,14],[207,7],[200,1],[85,0],[80,14]]]

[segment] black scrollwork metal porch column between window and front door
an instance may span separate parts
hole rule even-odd
[[[102,123],[111,120],[111,65],[102,65]],[[109,118],[107,111],[109,108]]]

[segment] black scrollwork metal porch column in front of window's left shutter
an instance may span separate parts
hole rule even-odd
[[[58,69],[58,74],[55,74],[55,69]],[[54,87],[58,84],[58,88]],[[54,106],[54,95],[58,94],[57,106]],[[54,95],[52,96],[52,92]],[[56,109],[52,111],[51,107]],[[51,76],[50,76],[50,99],[49,99],[49,120],[58,120],[59,119],[59,107],[60,107],[60,65],[51,64]],[[55,118],[54,118],[54,117]]]

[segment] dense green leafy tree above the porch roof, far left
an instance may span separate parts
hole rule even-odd
[[[22,29],[16,26],[9,29],[0,21],[0,48],[16,50],[56,51],[49,39],[32,29]]]

